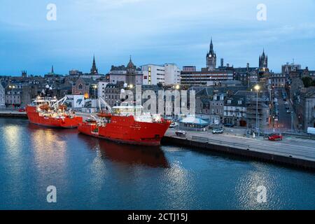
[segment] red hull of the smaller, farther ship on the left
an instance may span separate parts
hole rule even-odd
[[[38,112],[36,111],[36,106],[27,106],[26,111],[30,123],[42,125],[45,127],[76,128],[78,127],[79,123],[83,123],[82,117],[66,117],[61,119],[39,116]]]

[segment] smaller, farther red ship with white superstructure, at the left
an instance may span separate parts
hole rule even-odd
[[[82,117],[77,117],[74,112],[67,111],[64,102],[66,97],[57,101],[56,98],[37,99],[27,106],[29,122],[45,127],[76,128],[83,122]]]

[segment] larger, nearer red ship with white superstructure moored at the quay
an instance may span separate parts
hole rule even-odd
[[[110,113],[99,113],[99,119],[79,124],[78,131],[123,144],[160,146],[171,122],[141,111],[142,106],[114,106]]]

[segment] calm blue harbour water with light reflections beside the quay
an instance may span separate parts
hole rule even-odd
[[[0,119],[0,209],[315,209],[315,174]]]

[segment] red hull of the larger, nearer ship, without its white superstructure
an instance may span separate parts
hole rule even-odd
[[[80,123],[78,131],[92,137],[123,144],[160,146],[161,139],[164,137],[170,124],[166,120],[162,123],[145,123],[134,120],[133,116],[113,116],[111,123],[98,128],[96,124]]]

